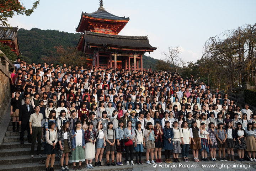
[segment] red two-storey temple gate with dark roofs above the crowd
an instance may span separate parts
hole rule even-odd
[[[156,49],[149,44],[147,36],[120,36],[129,17],[118,17],[100,7],[93,13],[82,12],[77,32],[81,36],[76,48],[91,61],[91,67],[111,68],[128,71],[147,71],[143,68],[143,54]],[[140,68],[139,68],[140,61]],[[90,64],[89,64],[90,65]]]

